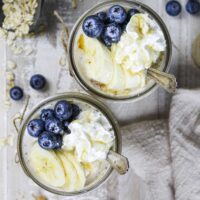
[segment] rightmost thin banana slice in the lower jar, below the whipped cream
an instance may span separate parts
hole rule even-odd
[[[83,170],[83,167],[81,164],[75,159],[74,155],[69,152],[64,152],[64,155],[70,160],[70,162],[73,164],[76,173],[78,175],[78,181],[76,183],[77,190],[81,190],[85,186],[86,178],[85,178],[85,173]]]

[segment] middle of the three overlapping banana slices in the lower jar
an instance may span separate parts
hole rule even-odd
[[[62,161],[62,165],[65,170],[64,177],[66,177],[66,183],[63,188],[66,189],[68,192],[77,190],[78,176],[73,164],[62,151],[58,151],[56,154]]]

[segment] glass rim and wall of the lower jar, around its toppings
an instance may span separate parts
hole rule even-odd
[[[38,105],[36,105],[24,118],[23,123],[19,129],[19,135],[18,135],[18,143],[17,143],[17,153],[19,157],[19,162],[21,164],[22,169],[24,170],[25,174],[31,178],[36,184],[38,184],[43,189],[52,192],[54,194],[63,195],[63,196],[74,196],[78,194],[86,193],[90,190],[95,189],[99,185],[101,185],[104,181],[108,179],[108,177],[111,175],[113,168],[111,168],[110,165],[107,165],[105,168],[105,172],[102,172],[102,174],[99,174],[99,176],[89,185],[86,185],[82,190],[75,191],[75,192],[66,192],[62,189],[58,189],[55,187],[51,187],[44,183],[44,181],[41,181],[37,175],[34,173],[34,169],[32,168],[29,160],[29,155],[31,151],[31,147],[33,146],[33,143],[35,142],[34,138],[32,138],[29,134],[26,132],[27,124],[28,122],[33,119],[34,117],[38,117],[38,112],[40,112],[43,108],[54,105],[59,100],[68,100],[68,101],[79,101],[79,102],[85,102],[86,104],[89,104],[90,106],[96,108],[99,110],[108,120],[110,125],[112,126],[113,132],[115,134],[115,141],[114,145],[112,147],[112,150],[121,153],[121,133],[120,128],[118,125],[117,120],[103,103],[100,101],[92,98],[89,95],[81,94],[81,93],[64,93],[64,94],[58,94],[53,97],[49,97],[42,102],[40,102]]]

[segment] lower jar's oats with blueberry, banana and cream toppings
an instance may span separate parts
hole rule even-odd
[[[112,171],[107,155],[119,150],[114,126],[87,100],[49,101],[23,125],[19,140],[23,168],[36,183],[57,194],[93,189]]]

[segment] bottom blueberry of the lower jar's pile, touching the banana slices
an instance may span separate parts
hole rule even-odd
[[[46,150],[60,149],[62,146],[61,135],[55,135],[51,132],[44,131],[38,138],[40,147]]]

